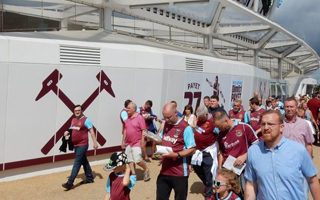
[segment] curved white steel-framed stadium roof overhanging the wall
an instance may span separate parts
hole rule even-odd
[[[231,0],[3,0],[3,10],[101,28],[101,9],[109,8],[127,16],[199,34],[203,40],[208,38],[208,48],[221,57],[235,53],[249,57],[246,52],[253,50],[259,52],[261,59],[285,61],[302,74],[317,70],[317,53],[303,39],[271,20],[277,2],[279,0],[274,0],[266,16],[256,12],[260,8],[254,5],[246,7]],[[249,9],[250,6],[253,8]],[[152,36],[147,31],[144,34]],[[231,45],[221,43],[219,46],[217,41]],[[219,48],[221,51],[217,51]],[[286,72],[282,70],[282,73]]]

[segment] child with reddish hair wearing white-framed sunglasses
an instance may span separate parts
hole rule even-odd
[[[237,175],[228,169],[219,169],[213,181],[215,194],[211,200],[241,200],[235,193],[240,192]]]

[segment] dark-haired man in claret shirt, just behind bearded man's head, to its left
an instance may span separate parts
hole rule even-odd
[[[250,126],[253,128],[253,130],[256,132],[256,134],[259,137],[259,140],[262,140],[261,135],[261,118],[265,111],[265,109],[260,107],[259,99],[258,98],[251,98],[249,100],[250,110],[246,112],[244,121],[247,124],[250,124]]]

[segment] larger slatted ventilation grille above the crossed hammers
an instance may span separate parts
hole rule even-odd
[[[60,46],[60,63],[100,65],[100,49],[79,46]]]

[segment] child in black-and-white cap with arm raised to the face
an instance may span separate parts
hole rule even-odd
[[[111,155],[109,163],[103,168],[110,173],[105,200],[130,200],[130,191],[136,184],[137,176],[130,174],[130,168],[126,167],[127,155],[121,151]]]

